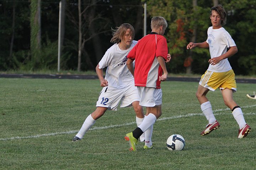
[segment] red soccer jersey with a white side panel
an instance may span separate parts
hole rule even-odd
[[[160,89],[159,76],[163,70],[156,57],[161,56],[167,60],[167,54],[167,41],[164,36],[151,33],[140,39],[127,56],[135,59],[135,86]]]

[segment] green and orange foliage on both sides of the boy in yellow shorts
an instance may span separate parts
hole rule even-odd
[[[166,30],[169,53],[172,60],[167,68],[171,73],[185,72],[183,62],[189,56],[186,50],[188,42],[191,41],[193,29],[197,27],[196,42],[203,42],[207,39],[207,29],[211,26],[209,10],[213,6],[212,1],[198,0],[197,7],[193,10],[192,1],[182,0],[148,0],[148,12],[150,16],[163,16],[169,24]],[[240,58],[255,55],[256,46],[254,39],[256,36],[256,1],[235,1],[219,0],[227,13],[227,24],[224,26],[230,33],[238,46],[238,53],[229,58],[231,66],[237,74],[251,74],[255,71],[245,71],[239,64]],[[202,74],[208,67],[209,52],[205,49],[193,49],[192,72]],[[251,61],[256,65],[256,61]],[[254,69],[251,68],[251,69]]]

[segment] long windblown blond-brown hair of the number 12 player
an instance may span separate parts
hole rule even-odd
[[[120,27],[116,27],[116,29],[112,29],[113,37],[111,38],[110,42],[113,42],[113,43],[121,42],[121,40],[124,37],[127,29],[130,29],[130,34],[132,36],[132,39],[134,39],[134,28],[133,28],[133,26],[131,24],[124,23],[124,24],[121,24]]]

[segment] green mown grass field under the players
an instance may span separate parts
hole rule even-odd
[[[129,152],[124,140],[136,127],[132,108],[107,111],[84,139],[71,142],[101,91],[98,80],[0,78],[0,169],[80,170],[252,170],[256,167],[256,84],[238,83],[234,100],[252,131],[238,139],[239,126],[219,90],[209,98],[220,129],[200,136],[207,120],[195,97],[196,82],[163,82],[162,116],[154,148]],[[169,151],[172,134],[185,138],[183,151]]]

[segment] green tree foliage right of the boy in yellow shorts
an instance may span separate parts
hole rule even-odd
[[[224,26],[238,47],[238,53],[229,58],[235,74],[256,75],[256,1],[222,2],[227,11]]]

